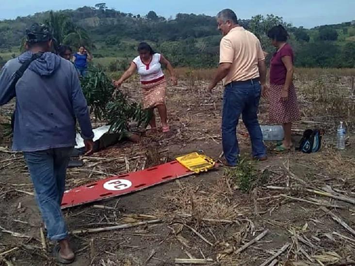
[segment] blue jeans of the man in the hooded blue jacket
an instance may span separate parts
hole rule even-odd
[[[72,147],[66,147],[24,152],[48,238],[53,241],[68,237],[61,203],[65,191],[66,168],[72,151]]]

